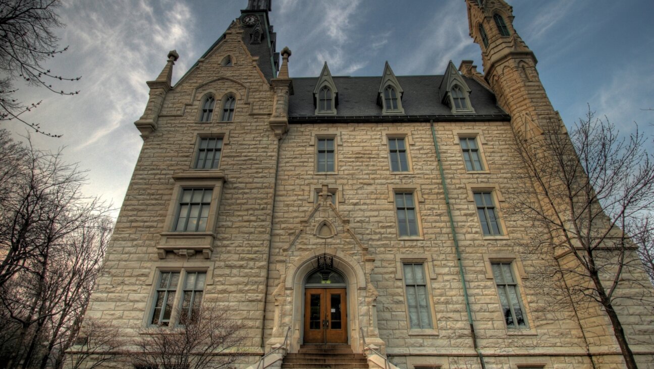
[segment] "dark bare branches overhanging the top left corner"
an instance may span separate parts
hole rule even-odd
[[[22,79],[31,86],[39,86],[60,95],[76,95],[52,86],[52,81],[79,80],[54,74],[42,63],[67,50],[59,48],[58,37],[52,29],[63,24],[55,10],[60,0],[0,0],[0,120],[17,120],[38,133],[46,133],[39,124],[28,123],[22,114],[41,104],[24,104],[16,100],[14,80]]]

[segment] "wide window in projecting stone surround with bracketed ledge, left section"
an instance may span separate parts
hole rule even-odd
[[[207,218],[211,206],[211,188],[184,188],[182,189],[177,220],[173,231],[178,232],[204,232],[207,230]]]

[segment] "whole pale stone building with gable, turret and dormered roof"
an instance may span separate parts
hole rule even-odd
[[[281,346],[259,367],[623,367],[606,314],[552,308],[536,286],[555,281],[534,273],[555,261],[503,216],[525,185],[514,132],[560,118],[511,7],[466,3],[485,74],[291,78],[271,0],[249,0],[175,86],[170,52],[87,319],[135,337],[221,304],[246,326],[243,368]],[[654,368],[651,310],[619,316]],[[310,344],[345,366],[302,362]]]

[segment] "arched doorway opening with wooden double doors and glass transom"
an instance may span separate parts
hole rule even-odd
[[[321,268],[304,282],[305,344],[347,344],[347,280],[337,270]]]

